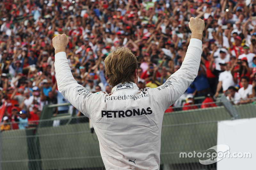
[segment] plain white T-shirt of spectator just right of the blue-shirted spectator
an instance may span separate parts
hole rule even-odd
[[[228,90],[228,87],[235,86],[235,82],[233,80],[233,76],[231,74],[231,71],[223,71],[220,73],[219,81],[222,82],[222,89],[223,91]]]

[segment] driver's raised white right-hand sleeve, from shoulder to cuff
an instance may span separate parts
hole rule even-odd
[[[153,89],[158,104],[166,110],[188,89],[197,76],[202,54],[202,41],[192,38],[184,61],[179,70],[169,77],[166,82]]]

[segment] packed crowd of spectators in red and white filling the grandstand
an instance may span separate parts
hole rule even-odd
[[[63,33],[77,83],[111,93],[104,73],[111,49],[130,48],[140,62],[138,87],[157,87],[184,60],[189,19],[202,18],[201,64],[181,97],[183,109],[214,107],[207,103],[223,92],[234,104],[256,96],[255,0],[3,0],[0,16],[3,121],[23,122],[12,129],[35,126],[45,104],[67,102],[58,91],[52,47],[52,38]],[[200,96],[205,100],[193,99]],[[188,106],[194,103],[202,105]],[[178,100],[173,106],[183,104]],[[54,115],[67,112],[68,107],[53,109]]]

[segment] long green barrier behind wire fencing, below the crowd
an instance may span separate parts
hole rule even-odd
[[[201,165],[198,158],[180,158],[180,152],[205,152],[217,144],[217,122],[233,117],[222,103],[216,104],[218,107],[164,114],[160,169],[216,169],[216,164]],[[3,170],[102,169],[99,142],[88,118],[74,114],[53,118],[51,108],[56,106],[44,107],[36,128],[1,133]],[[254,103],[234,108],[240,118],[256,117]]]

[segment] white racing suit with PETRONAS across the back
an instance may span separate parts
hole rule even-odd
[[[197,76],[202,41],[191,39],[182,66],[157,88],[118,84],[112,94],[91,93],[73,78],[65,52],[55,55],[58,89],[92,120],[107,170],[158,170],[164,111]]]

